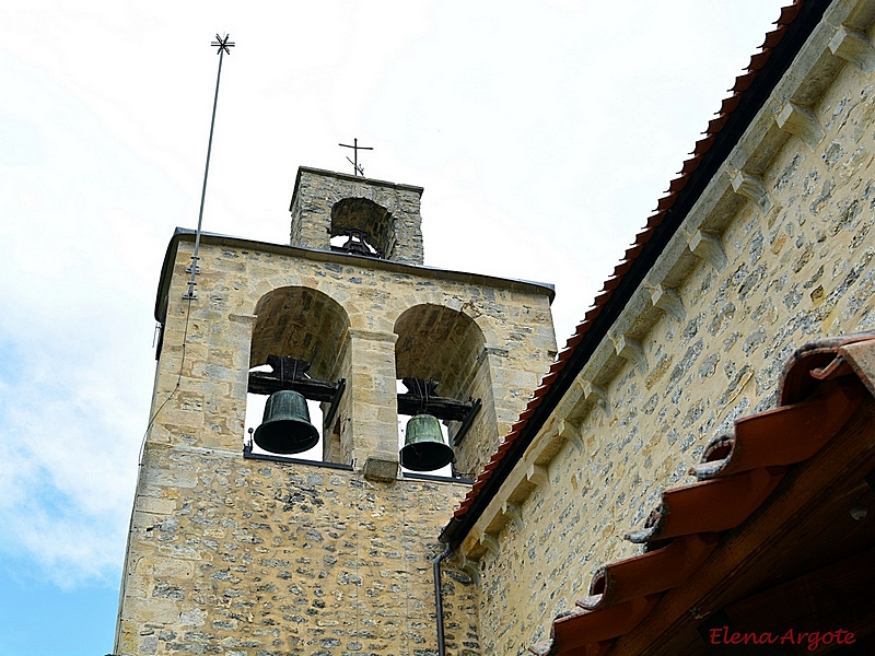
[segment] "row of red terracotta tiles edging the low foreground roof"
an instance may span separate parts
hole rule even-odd
[[[627,536],[653,549],[600,569],[590,595],[576,604],[582,611],[558,617],[551,640],[529,652],[606,653],[614,639],[655,608],[663,591],[682,586],[698,571],[722,532],[768,500],[789,467],[815,457],[867,394],[875,395],[875,331],[798,349],[782,377],[781,406],[737,420],[732,434],[712,441],[693,468],[708,480],[664,492],[644,529]]]

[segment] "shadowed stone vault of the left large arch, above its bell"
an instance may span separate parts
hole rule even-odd
[[[311,288],[285,286],[261,296],[254,314],[249,366],[285,355],[310,362],[314,378],[338,377],[350,321],[337,301]]]

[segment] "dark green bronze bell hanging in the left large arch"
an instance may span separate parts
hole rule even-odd
[[[319,432],[310,423],[310,410],[303,395],[282,389],[265,403],[265,418],[253,435],[255,443],[272,454],[300,454],[315,446]]]

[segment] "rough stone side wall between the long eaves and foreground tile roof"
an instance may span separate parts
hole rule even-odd
[[[709,214],[728,213],[718,235],[725,261],[695,258],[669,290],[680,306],[644,331],[627,329],[640,354],[618,358],[619,342],[610,344],[612,364],[584,372],[580,400],[560,406],[539,436],[560,445],[539,462],[544,481],[494,540],[487,529],[469,540],[482,552],[485,654],[525,653],[588,594],[598,566],[637,553],[622,534],[663,490],[690,482],[711,437],[774,406],[795,348],[875,328],[872,78],[843,65],[812,109],[824,131],[814,148],[765,124],[779,144],[754,172],[768,196],[730,189]]]

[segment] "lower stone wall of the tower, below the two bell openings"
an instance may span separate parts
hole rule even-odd
[[[147,448],[117,654],[436,654],[431,559],[457,483]],[[479,651],[474,585],[443,565],[447,654]]]

